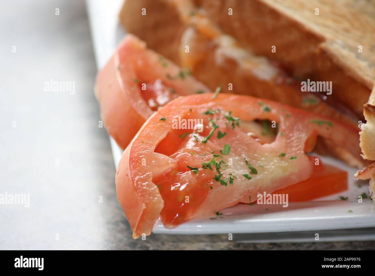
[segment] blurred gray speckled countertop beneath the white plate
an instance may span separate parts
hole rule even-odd
[[[30,195],[30,207],[0,205],[0,249],[374,248],[370,241],[243,244],[236,235],[133,240],[116,198],[109,138],[98,127],[84,2],[1,6],[0,194]],[[51,79],[74,83],[74,94],[45,91]]]

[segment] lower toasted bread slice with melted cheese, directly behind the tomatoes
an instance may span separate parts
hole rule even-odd
[[[141,14],[143,8],[146,15]],[[145,40],[149,48],[181,67],[188,67],[213,90],[221,85],[223,92],[280,101],[357,127],[358,116],[338,112],[320,97],[301,92],[300,81],[288,77],[276,62],[241,47],[190,0],[127,0],[121,9],[120,21],[127,31]],[[186,46],[189,46],[188,52]],[[321,140],[318,145],[321,154],[334,155],[352,166],[368,164],[347,155],[344,149],[329,141]]]

